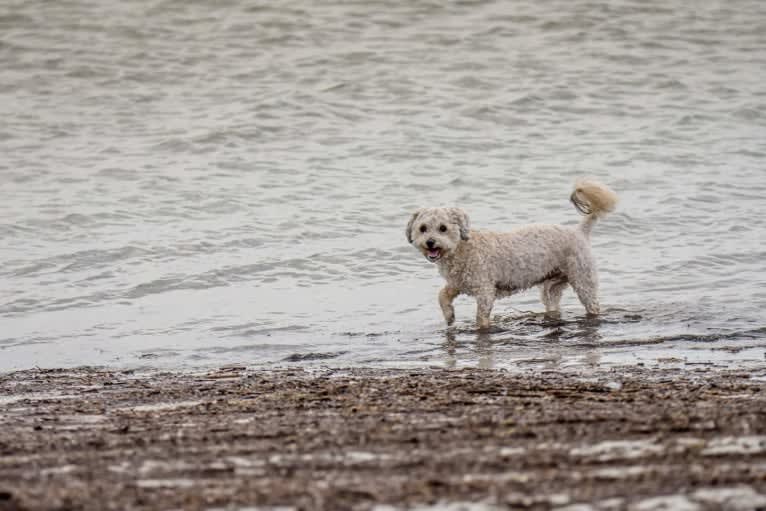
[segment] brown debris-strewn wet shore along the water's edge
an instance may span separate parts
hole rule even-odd
[[[766,376],[0,375],[0,510],[248,506],[766,509]]]

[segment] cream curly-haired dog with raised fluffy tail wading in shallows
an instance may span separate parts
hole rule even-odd
[[[422,208],[412,215],[407,240],[436,263],[447,280],[439,305],[448,325],[455,321],[452,301],[459,294],[476,297],[476,324],[486,329],[496,298],[538,285],[546,312],[559,309],[569,284],[588,314],[599,313],[590,232],[599,218],[614,210],[617,195],[583,179],[575,184],[570,200],[585,215],[576,227],[532,224],[506,233],[473,231],[458,208]]]

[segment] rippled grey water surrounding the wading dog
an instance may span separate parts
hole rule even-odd
[[[697,4],[6,2],[0,370],[763,365],[766,4]],[[604,316],[446,331],[409,213],[585,174]]]

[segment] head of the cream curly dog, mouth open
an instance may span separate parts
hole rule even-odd
[[[468,215],[458,208],[424,208],[407,223],[407,241],[432,263],[454,251],[469,237]]]

